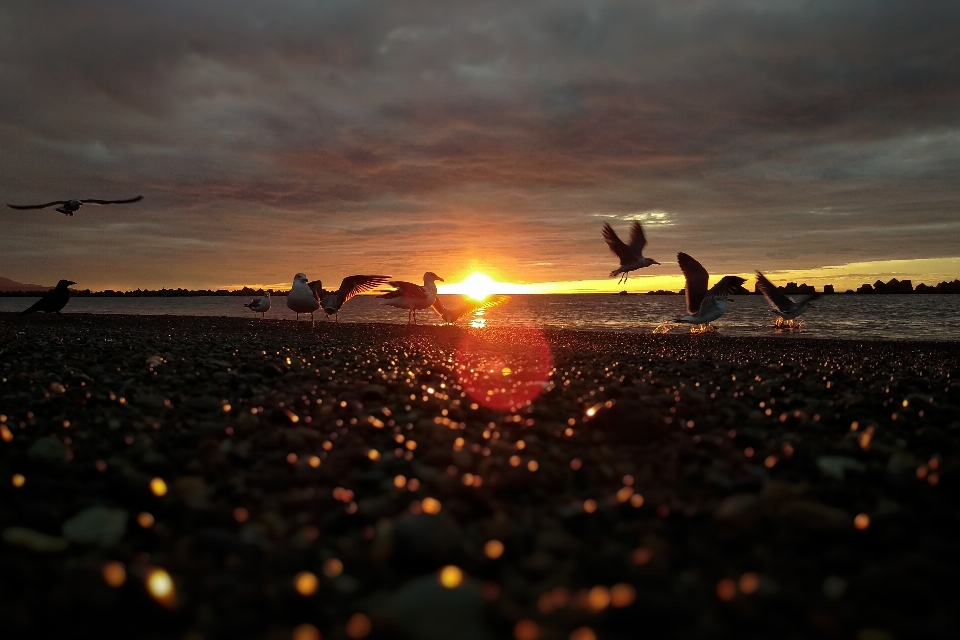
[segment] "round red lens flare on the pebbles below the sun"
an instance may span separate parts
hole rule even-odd
[[[492,341],[468,335],[460,342],[457,379],[476,404],[511,411],[543,392],[553,369],[550,347],[537,329],[518,330],[516,338]]]

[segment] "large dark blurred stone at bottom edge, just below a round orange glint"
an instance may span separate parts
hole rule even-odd
[[[483,593],[465,581],[455,589],[443,587],[436,576],[408,582],[391,598],[391,617],[410,640],[484,640]]]

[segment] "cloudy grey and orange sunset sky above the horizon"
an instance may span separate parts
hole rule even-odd
[[[6,0],[0,276],[960,277],[960,3]],[[543,284],[548,283],[548,284]]]

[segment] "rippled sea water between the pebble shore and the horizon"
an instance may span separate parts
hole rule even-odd
[[[441,296],[441,299],[444,296]],[[35,298],[0,298],[0,312],[20,311]],[[64,313],[123,313],[138,315],[230,316],[251,318],[247,298],[73,298]],[[818,338],[960,340],[960,296],[951,295],[835,295],[820,298],[804,317],[801,335]],[[482,318],[463,318],[461,324],[534,326],[568,329],[652,332],[683,311],[680,296],[527,295],[511,296],[488,309]],[[292,319],[286,298],[274,296],[267,319]],[[776,335],[774,316],[760,296],[736,296],[715,326],[725,335]],[[325,322],[317,314],[318,322]],[[381,300],[358,296],[347,303],[341,322],[405,323],[407,312]],[[432,311],[420,312],[421,324],[437,324]],[[683,327],[674,331],[684,331]],[[785,335],[785,334],[780,334]]]

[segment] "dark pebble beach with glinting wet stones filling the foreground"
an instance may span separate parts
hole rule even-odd
[[[0,314],[0,628],[952,638],[958,364],[956,342]]]

